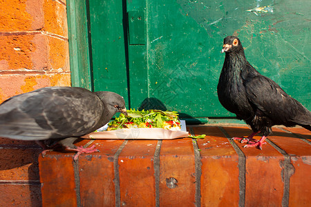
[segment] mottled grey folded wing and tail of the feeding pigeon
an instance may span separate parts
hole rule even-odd
[[[0,106],[0,135],[41,140],[79,137],[93,130],[102,101],[88,90],[44,88],[13,97]]]

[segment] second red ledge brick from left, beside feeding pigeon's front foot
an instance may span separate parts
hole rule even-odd
[[[82,206],[115,206],[113,156],[122,142],[122,140],[95,140],[93,144],[100,152],[79,156]]]

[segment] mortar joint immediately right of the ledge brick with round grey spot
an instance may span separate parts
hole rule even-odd
[[[194,128],[189,127],[191,136],[195,136]],[[198,150],[198,142],[196,139],[192,139],[192,145],[194,146],[194,161],[196,168],[196,206],[201,206],[201,175],[202,175],[202,162],[200,157],[200,151]]]

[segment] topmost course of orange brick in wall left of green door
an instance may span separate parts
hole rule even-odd
[[[66,1],[0,1],[1,32],[42,30],[68,37]]]

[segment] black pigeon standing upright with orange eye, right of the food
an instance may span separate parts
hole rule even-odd
[[[238,37],[226,37],[221,52],[226,56],[217,86],[218,99],[223,107],[253,130],[247,138],[233,139],[247,142],[244,147],[261,149],[274,125],[299,125],[311,130],[311,112],[249,64]],[[263,133],[259,141],[253,139],[258,132]]]

